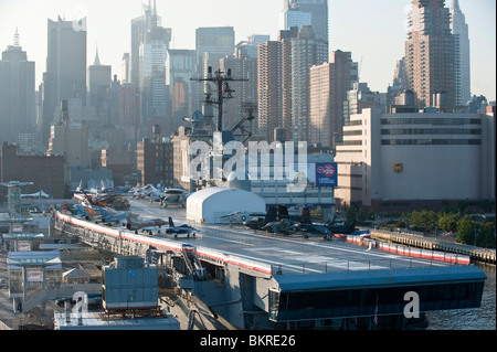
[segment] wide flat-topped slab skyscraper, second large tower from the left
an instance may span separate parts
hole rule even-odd
[[[43,142],[49,140],[50,126],[59,118],[62,100],[78,98],[86,105],[86,29],[74,21],[47,23],[46,73],[43,75]]]

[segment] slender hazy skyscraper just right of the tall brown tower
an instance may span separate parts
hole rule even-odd
[[[470,83],[470,55],[469,55],[469,31],[465,17],[459,8],[459,1],[452,1],[451,9],[451,29],[452,34],[459,38],[459,92],[461,96],[457,105],[467,105],[472,98]]]

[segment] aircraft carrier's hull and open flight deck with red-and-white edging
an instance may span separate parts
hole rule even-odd
[[[145,220],[188,223],[184,209],[130,204]],[[425,312],[479,307],[486,279],[464,256],[392,254],[353,236],[325,241],[229,224],[191,224],[195,236],[175,236],[63,212],[54,220],[56,231],[99,250],[166,268],[171,288],[237,329],[423,329]]]

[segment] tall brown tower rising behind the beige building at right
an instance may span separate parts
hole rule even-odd
[[[405,42],[406,88],[419,108],[451,109],[458,102],[457,36],[444,0],[413,0]]]

